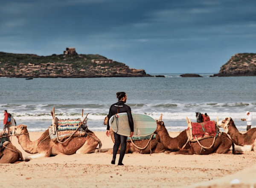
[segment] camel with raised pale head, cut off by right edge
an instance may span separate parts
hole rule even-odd
[[[218,127],[222,127],[226,131],[235,145],[244,146],[241,150],[247,150],[249,148],[249,150],[256,151],[256,128],[252,128],[242,134],[236,128],[232,118],[223,119],[218,124]]]

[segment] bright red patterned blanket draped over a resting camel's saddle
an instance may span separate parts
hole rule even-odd
[[[193,139],[195,139],[195,136],[197,138],[201,138],[203,136],[214,137],[217,134],[215,121],[206,121],[203,123],[191,123],[191,124],[192,124]],[[189,127],[187,130],[189,130]]]

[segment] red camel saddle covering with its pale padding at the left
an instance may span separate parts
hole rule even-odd
[[[189,127],[186,132],[187,136],[190,137],[193,142],[196,141],[195,137],[198,140],[215,137],[218,134],[218,127],[215,125],[215,121],[192,123],[192,135]]]

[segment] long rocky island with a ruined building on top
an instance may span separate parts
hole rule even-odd
[[[77,54],[67,48],[61,55],[39,56],[0,52],[0,77],[99,78],[147,77],[143,69],[131,69],[102,55]]]

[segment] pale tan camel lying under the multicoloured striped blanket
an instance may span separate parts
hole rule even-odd
[[[87,130],[87,136],[71,137],[67,142],[61,144],[53,142],[49,137],[49,130],[47,129],[39,139],[30,141],[27,126],[20,124],[18,126],[10,127],[10,130],[17,136],[18,142],[27,153],[39,153],[38,155],[28,156],[29,159],[36,159],[39,157],[49,157],[50,155],[72,155],[74,153],[94,153],[98,152],[96,148],[99,145],[99,150],[102,146],[101,141],[96,135]]]

